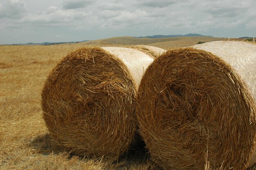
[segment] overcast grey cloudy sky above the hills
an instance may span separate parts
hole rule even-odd
[[[0,44],[197,33],[256,37],[256,0],[0,0]]]

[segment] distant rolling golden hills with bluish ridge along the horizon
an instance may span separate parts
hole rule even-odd
[[[100,40],[85,40],[81,42],[43,42],[43,43],[27,43],[16,45],[56,45],[72,44],[72,47],[96,46],[96,47],[130,47],[134,45],[151,45],[162,49],[173,49],[179,47],[189,47],[196,45],[198,42],[211,42],[221,40],[244,40],[245,38],[217,38],[211,36],[177,36],[168,38],[135,38],[135,37],[112,37]],[[247,39],[252,40],[252,39]]]

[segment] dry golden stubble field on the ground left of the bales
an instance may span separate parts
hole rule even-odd
[[[131,152],[125,161],[110,164],[96,158],[71,155],[59,148],[49,137],[40,107],[41,89],[47,75],[58,61],[83,45],[0,45],[1,170],[158,168],[147,159],[144,151]]]

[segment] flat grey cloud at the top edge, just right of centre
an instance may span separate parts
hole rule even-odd
[[[171,4],[175,4],[178,0],[139,0],[137,5],[140,7],[168,7]]]

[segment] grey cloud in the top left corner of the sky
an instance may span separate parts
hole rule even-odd
[[[0,19],[20,19],[28,12],[23,0],[2,0],[0,2]]]

